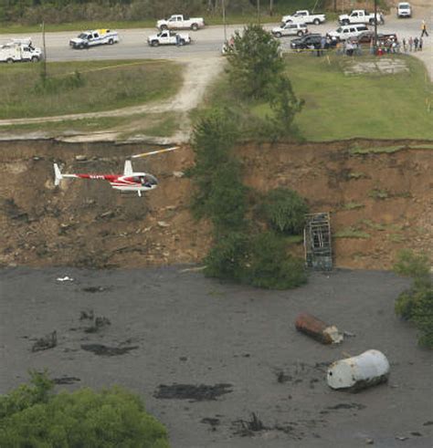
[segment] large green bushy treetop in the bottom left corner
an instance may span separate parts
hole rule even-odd
[[[120,388],[82,389],[48,396],[47,381],[46,375],[34,376],[33,387],[21,386],[0,399],[2,448],[169,446],[164,426],[144,411],[132,393]],[[23,405],[21,399],[29,391],[37,393]]]

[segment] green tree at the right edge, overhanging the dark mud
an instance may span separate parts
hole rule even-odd
[[[433,288],[428,256],[403,250],[394,270],[413,279],[412,287],[396,299],[396,314],[415,323],[419,345],[433,349]]]

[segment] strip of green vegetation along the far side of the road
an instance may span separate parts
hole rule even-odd
[[[257,2],[258,0],[1,0],[0,22],[36,25],[43,21],[47,24],[59,24],[89,20],[157,19],[176,13],[208,16],[220,14],[223,5],[227,14],[248,15],[255,14]],[[304,4],[305,7],[312,6],[314,3],[313,0],[261,0],[260,7],[263,13],[267,13],[278,6],[291,10]]]

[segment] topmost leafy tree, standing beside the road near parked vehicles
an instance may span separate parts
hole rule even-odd
[[[280,43],[259,25],[238,31],[228,46],[228,76],[235,91],[246,98],[268,99],[284,70]]]

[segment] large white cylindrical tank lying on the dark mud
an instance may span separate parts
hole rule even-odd
[[[389,362],[379,350],[367,350],[353,358],[333,362],[328,369],[328,385],[333,389],[359,391],[386,381]]]

